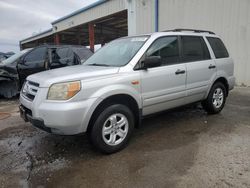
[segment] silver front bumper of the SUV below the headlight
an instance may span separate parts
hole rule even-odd
[[[20,95],[20,112],[23,108],[26,113],[24,120],[46,132],[59,135],[75,135],[87,131],[98,98],[56,102],[42,97],[41,90],[33,101]]]

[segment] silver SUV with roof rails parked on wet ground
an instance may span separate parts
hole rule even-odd
[[[114,40],[84,65],[27,78],[25,121],[47,132],[87,132],[105,153],[126,146],[144,116],[194,102],[219,113],[233,89],[234,63],[209,31],[172,30]]]

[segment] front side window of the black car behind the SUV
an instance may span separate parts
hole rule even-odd
[[[40,47],[32,50],[24,57],[24,63],[33,61],[43,61],[46,55],[46,47]]]

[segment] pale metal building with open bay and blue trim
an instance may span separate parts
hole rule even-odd
[[[100,0],[52,22],[52,28],[20,41],[104,44],[118,37],[174,28],[211,30],[235,60],[237,84],[250,86],[249,0]]]

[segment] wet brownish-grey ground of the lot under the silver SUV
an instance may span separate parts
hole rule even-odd
[[[0,101],[0,187],[250,187],[250,88],[219,115],[190,106],[147,118],[113,155],[40,131],[17,107]]]

